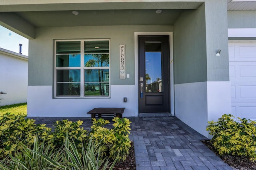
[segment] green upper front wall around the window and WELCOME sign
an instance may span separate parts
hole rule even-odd
[[[134,32],[172,32],[173,26],[88,26],[37,28],[29,40],[28,85],[53,84],[54,39],[110,38],[111,85],[134,85]],[[126,74],[119,79],[119,44],[126,45]]]

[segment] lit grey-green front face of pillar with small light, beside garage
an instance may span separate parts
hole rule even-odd
[[[229,81],[226,0],[205,2],[207,81]],[[216,56],[218,49],[220,56]]]

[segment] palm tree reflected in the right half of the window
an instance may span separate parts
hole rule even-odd
[[[91,59],[89,59],[85,63],[85,67],[108,67],[109,65],[109,55],[108,54],[92,54]],[[100,90],[100,95],[104,96],[105,91],[104,91],[104,86],[100,82],[104,82],[104,74],[103,74],[104,69],[98,69],[98,78],[99,78],[99,90]],[[90,75],[92,73],[92,69],[86,69],[86,74]],[[87,80],[85,80],[87,81]]]

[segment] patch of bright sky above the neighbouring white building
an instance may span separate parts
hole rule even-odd
[[[28,56],[28,39],[0,26],[0,48],[19,53],[22,44],[22,54]]]

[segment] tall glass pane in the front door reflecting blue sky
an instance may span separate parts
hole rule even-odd
[[[146,92],[162,92],[162,43],[146,42],[145,81]]]

